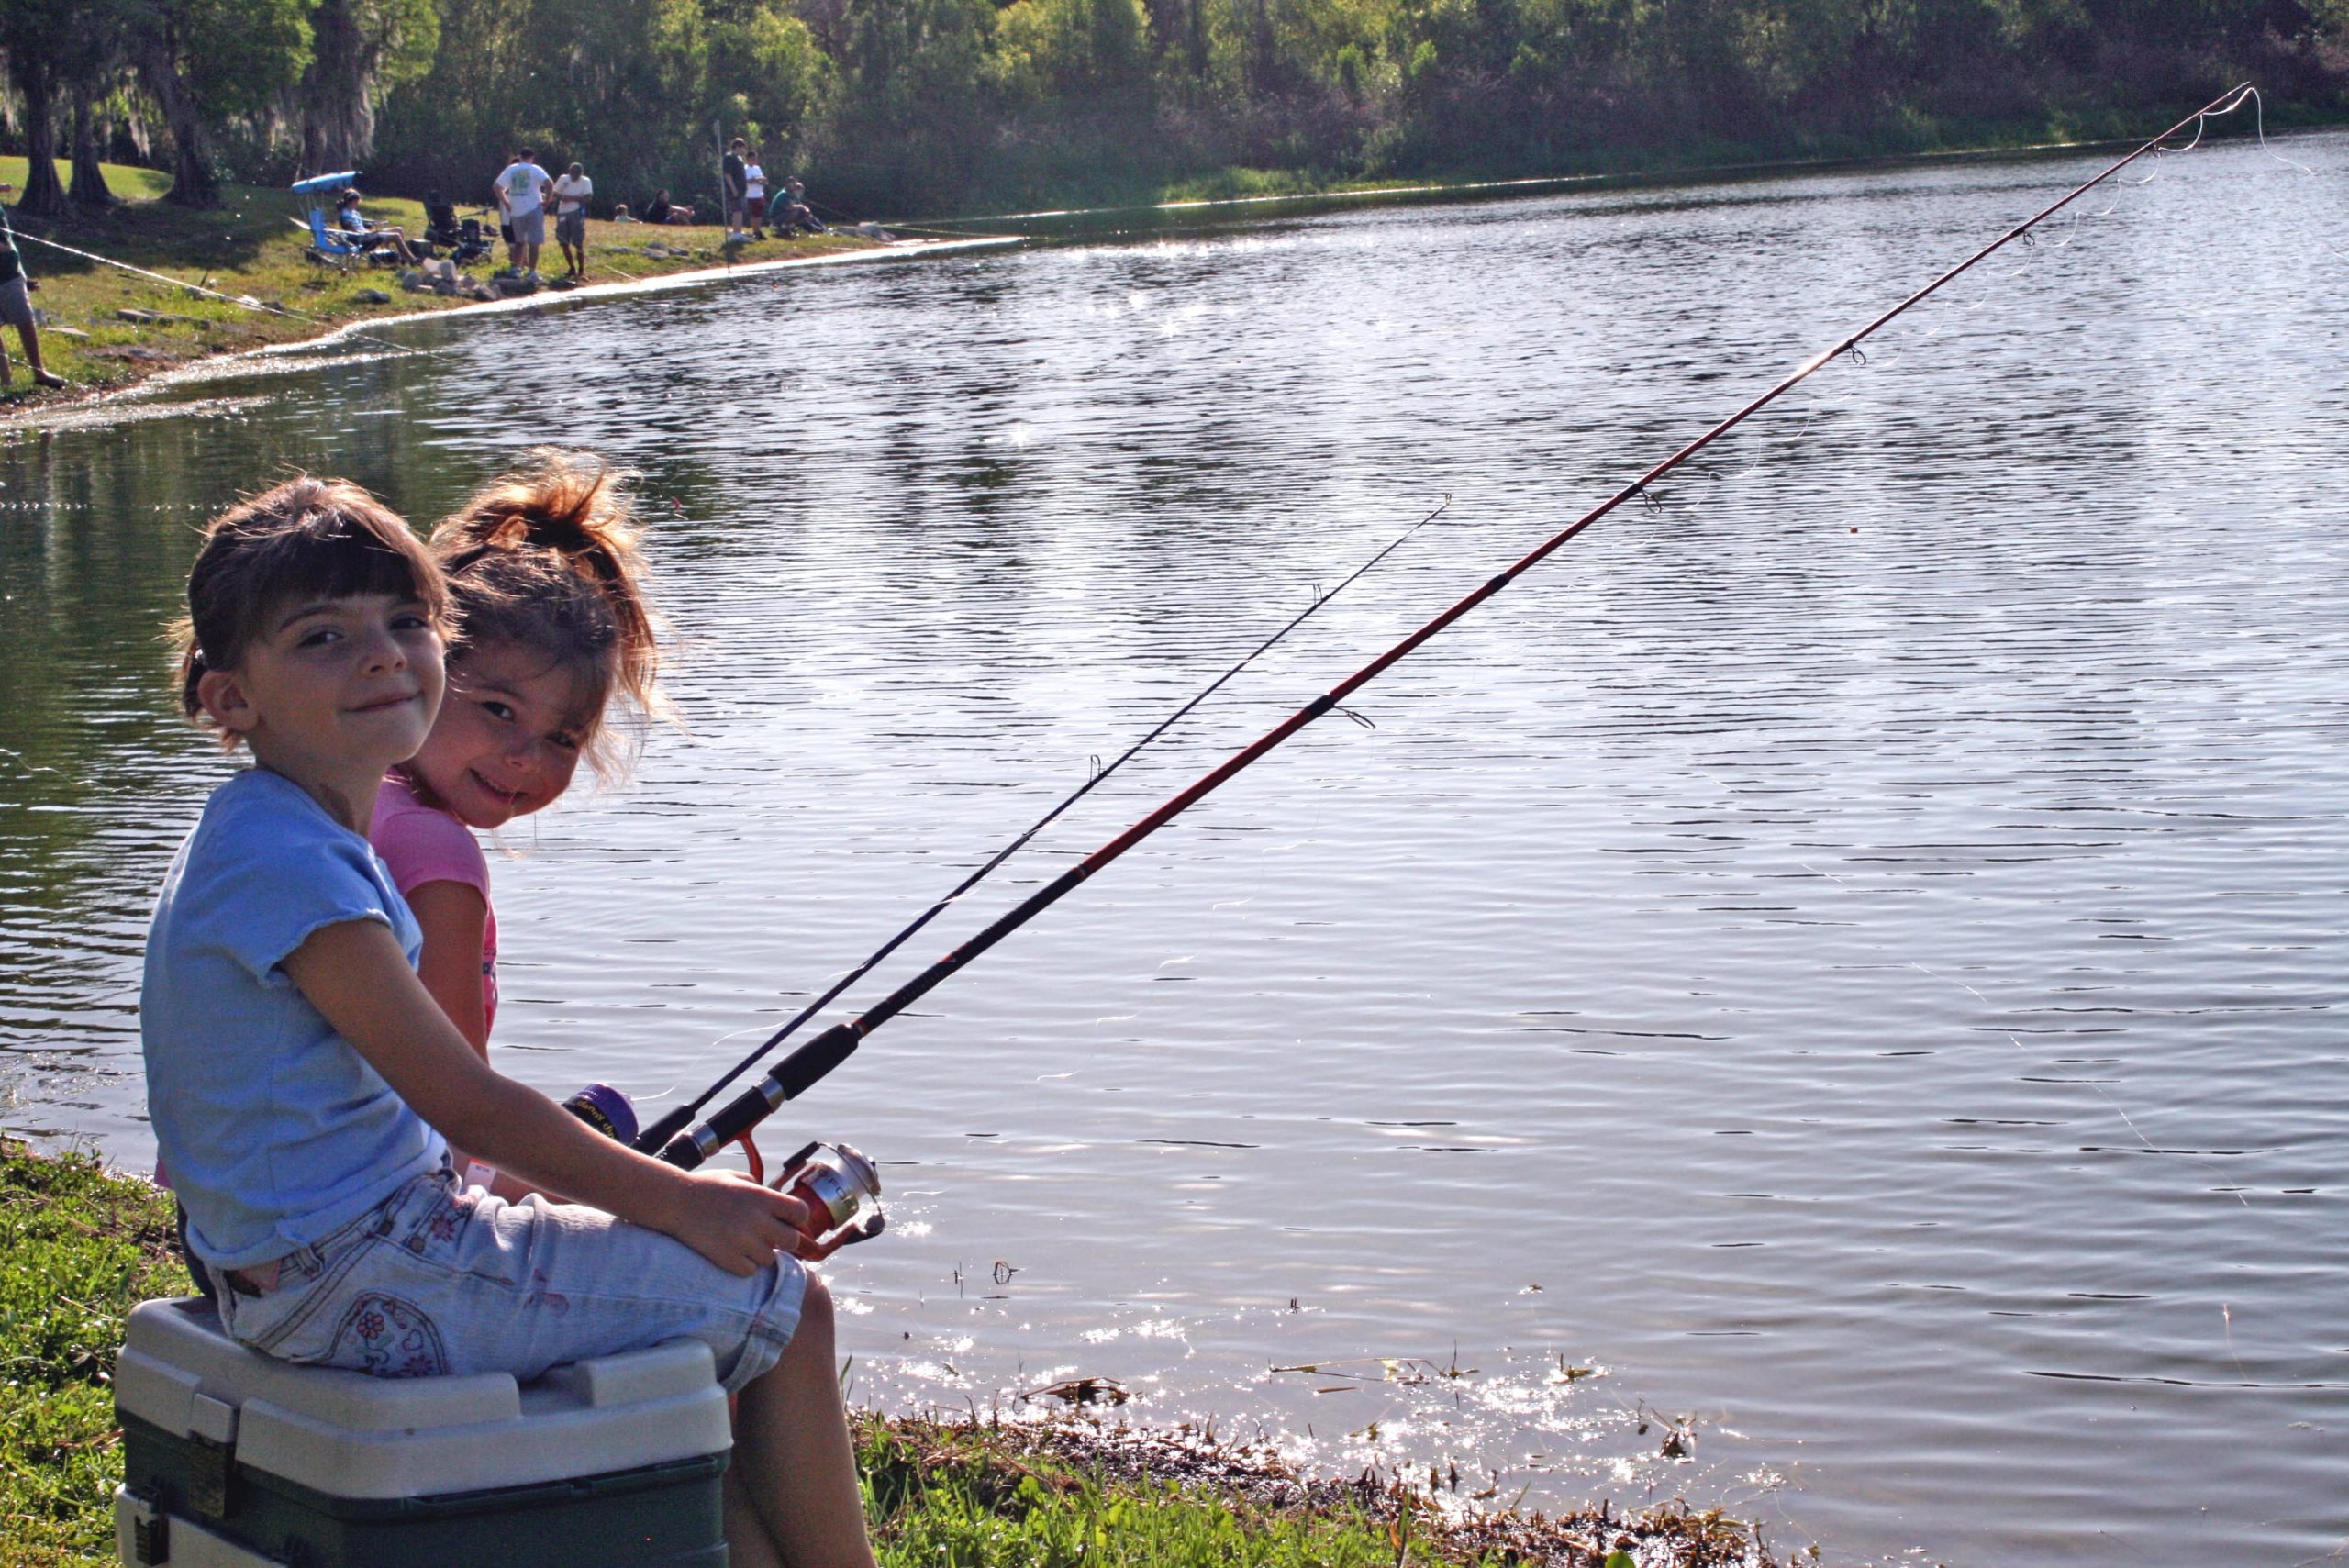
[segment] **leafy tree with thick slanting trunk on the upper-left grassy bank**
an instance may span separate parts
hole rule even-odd
[[[14,0],[12,0],[14,2]],[[179,207],[216,207],[214,127],[256,115],[310,63],[305,0],[127,0],[139,85],[171,127]]]

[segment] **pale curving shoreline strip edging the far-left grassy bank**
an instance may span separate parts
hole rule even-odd
[[[75,387],[59,392],[56,397],[28,399],[16,408],[0,411],[0,439],[16,439],[19,434],[35,434],[47,430],[92,430],[113,423],[113,418],[153,418],[139,411],[139,406],[146,399],[162,397],[186,385],[233,378],[240,373],[240,369],[247,369],[254,361],[308,354],[324,347],[334,347],[338,343],[364,340],[369,333],[385,326],[411,326],[416,322],[439,322],[465,315],[547,310],[554,305],[568,305],[573,300],[611,300],[634,293],[660,293],[667,289],[698,289],[733,277],[782,272],[787,268],[827,268],[827,265],[850,265],[871,261],[902,261],[911,256],[996,249],[1022,242],[1024,242],[1022,235],[970,235],[963,239],[886,239],[886,242],[874,242],[869,246],[822,251],[815,256],[768,256],[761,261],[698,265],[679,272],[651,272],[644,277],[622,275],[615,282],[580,284],[576,289],[540,286],[536,293],[519,293],[512,298],[465,300],[425,310],[402,310],[397,315],[385,315],[385,317],[352,317],[343,322],[319,322],[319,329],[303,338],[287,338],[282,343],[261,343],[249,347],[218,347],[214,352],[181,359],[179,364],[157,366],[141,376],[134,376],[127,383]],[[169,284],[155,284],[155,289],[167,289],[167,286]],[[181,289],[188,289],[188,284],[181,284]],[[388,352],[409,352],[409,354],[435,352],[402,343],[381,343],[376,347]]]

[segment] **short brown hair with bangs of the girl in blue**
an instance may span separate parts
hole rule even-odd
[[[287,479],[204,528],[188,570],[188,617],[174,627],[188,718],[204,714],[197,681],[244,664],[270,613],[296,594],[416,599],[449,629],[442,568],[397,512],[348,479]]]

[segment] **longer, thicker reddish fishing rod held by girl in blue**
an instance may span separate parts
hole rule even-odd
[[[1755,397],[1752,401],[1748,401],[1743,408],[1738,408],[1729,418],[1719,420],[1717,425],[1712,425],[1710,430],[1705,430],[1696,439],[1687,441],[1680,451],[1670,453],[1668,458],[1663,458],[1661,462],[1656,462],[1654,467],[1649,467],[1644,474],[1640,474],[1630,484],[1626,484],[1618,491],[1614,491],[1607,500],[1602,500],[1600,505],[1595,505],[1588,512],[1583,512],[1579,519],[1574,519],[1571,523],[1567,523],[1564,528],[1560,528],[1557,533],[1553,533],[1548,540],[1543,540],[1541,545],[1536,545],[1534,549],[1529,549],[1515,563],[1510,563],[1503,570],[1499,570],[1492,577],[1487,577],[1482,584],[1478,584],[1470,594],[1466,594],[1463,599],[1459,599],[1456,603],[1452,603],[1449,608],[1440,610],[1435,617],[1431,617],[1416,631],[1407,634],[1402,641],[1398,641],[1391,648],[1386,648],[1386,653],[1381,653],[1379,657],[1374,657],[1369,664],[1362,664],[1358,671],[1353,671],[1351,676],[1346,676],[1344,681],[1339,681],[1337,685],[1332,685],[1320,697],[1313,697],[1308,704],[1304,704],[1301,709],[1297,709],[1294,714],[1290,714],[1287,718],[1283,718],[1278,725],[1273,725],[1271,730],[1266,730],[1264,735],[1259,735],[1254,742],[1250,742],[1240,751],[1233,751],[1219,765],[1214,765],[1212,770],[1207,770],[1205,775],[1200,775],[1196,782],[1191,782],[1189,786],[1184,786],[1182,791],[1177,791],[1167,800],[1163,800],[1146,817],[1142,817],[1130,829],[1125,829],[1123,833],[1118,833],[1116,838],[1111,838],[1109,843],[1104,843],[1099,850],[1095,850],[1092,854],[1088,854],[1078,864],[1073,864],[1066,871],[1062,871],[1048,885],[1043,885],[1041,890],[1036,890],[1034,894],[1029,894],[1027,899],[1022,899],[1008,913],[998,915],[991,925],[987,925],[975,937],[970,937],[968,941],[963,941],[958,948],[954,948],[951,953],[947,953],[944,958],[940,958],[937,962],[933,962],[928,969],[923,969],[914,979],[909,979],[902,986],[897,986],[895,991],[890,991],[886,998],[881,998],[879,1002],[874,1002],[862,1014],[857,1014],[857,1016],[853,1016],[853,1019],[848,1019],[843,1023],[834,1023],[832,1028],[822,1030],[820,1035],[815,1035],[806,1045],[796,1047],[789,1056],[785,1056],[773,1068],[768,1068],[766,1077],[761,1077],[756,1084],[752,1084],[749,1089],[745,1089],[740,1096],[735,1096],[733,1101],[728,1101],[726,1106],[721,1106],[719,1113],[712,1115],[707,1122],[702,1122],[702,1124],[698,1124],[698,1127],[693,1127],[688,1131],[681,1131],[667,1145],[662,1145],[660,1157],[667,1160],[669,1164],[677,1164],[677,1167],[684,1167],[684,1169],[693,1169],[693,1167],[702,1164],[705,1160],[709,1160],[712,1153],[716,1153],[726,1143],[740,1138],[745,1131],[749,1131],[761,1120],[766,1120],[785,1101],[799,1099],[815,1082],[820,1082],[827,1073],[832,1073],[843,1061],[848,1061],[848,1056],[857,1049],[857,1045],[862,1045],[862,1040],[867,1035],[871,1035],[876,1028],[881,1028],[883,1023],[888,1023],[890,1019],[895,1019],[900,1012],[904,1012],[907,1007],[911,1007],[914,1002],[918,1002],[921,998],[926,998],[930,991],[935,991],[940,984],[944,984],[958,969],[963,969],[975,958],[980,958],[982,953],[987,953],[991,946],[996,946],[998,941],[1003,941],[1005,937],[1010,937],[1012,932],[1017,932],[1022,925],[1027,925],[1029,920],[1034,920],[1036,915],[1041,915],[1043,911],[1048,911],[1052,904],[1059,904],[1066,894],[1076,892],[1076,887],[1081,887],[1097,871],[1102,871],[1113,859],[1118,859],[1120,854],[1125,854],[1128,850],[1132,850],[1137,843],[1142,843],[1144,838],[1149,838],[1151,833],[1156,833],[1158,829],[1163,829],[1167,822],[1172,822],[1174,817],[1179,817],[1184,810],[1189,810],[1191,805],[1196,805],[1200,798],[1205,798],[1214,789],[1219,789],[1224,782],[1229,782],[1233,775],[1238,775],[1240,770],[1245,770],[1247,765],[1252,765],[1266,751],[1271,751],[1280,742],[1290,739],[1292,735],[1297,735],[1299,730],[1304,730],[1315,718],[1320,718],[1325,714],[1332,714],[1332,711],[1339,711],[1339,704],[1346,702],[1348,695],[1353,695],[1355,690],[1360,690],[1369,681],[1379,678],[1388,667],[1393,667],[1400,660],[1409,657],[1426,641],[1431,641],[1433,636],[1438,636],[1440,631],[1445,631],[1459,617],[1468,615],[1468,610],[1478,608],[1487,599],[1492,599],[1494,594],[1499,594],[1501,589],[1506,589],[1520,575],[1525,575],[1534,566],[1541,566],[1541,561],[1546,561],[1550,554],[1555,554],[1557,549],[1562,549],[1569,540],[1574,540],[1576,535],[1581,535],[1586,528],[1590,528],[1593,523],[1597,523],[1602,516],[1607,516],[1609,512],[1623,507],[1630,500],[1642,500],[1644,498],[1644,500],[1649,500],[1654,505],[1661,505],[1661,502],[1656,502],[1656,493],[1654,493],[1651,486],[1658,479],[1663,479],[1665,474],[1670,474],[1672,469],[1677,469],[1682,462],[1687,462],[1696,453],[1705,451],[1708,446],[1712,446],[1715,441],[1719,441],[1724,434],[1729,434],[1731,430],[1736,430],[1738,425],[1743,425],[1745,420],[1750,420],[1755,413],[1759,413],[1762,408],[1766,408],[1773,401],[1778,401],[1781,397],[1785,397],[1790,390],[1795,390],[1797,385],[1802,385],[1804,380],[1809,380],[1816,371],[1820,371],[1830,361],[1839,359],[1842,354],[1858,357],[1858,345],[1865,338],[1870,338],[1872,333],[1877,333],[1882,326],[1886,326],[1891,319],[1896,319],[1898,315],[1903,315],[1912,305],[1921,303],[1924,298],[1933,296],[1945,284],[1950,284],[1952,279],[1957,279],[1964,272],[1973,270],[1976,265],[1980,265],[1983,261],[1987,261],[1990,256],[1994,256],[1997,251],[2001,251],[2004,246],[2008,246],[2015,239],[2025,237],[2032,228],[2037,228],[2046,218],[2055,216],[2058,211],[2062,211],[2065,207],[2069,207],[2079,197],[2088,195],[2091,190],[2095,190],[2098,185],[2102,185],[2105,181],[2109,181],[2121,169],[2128,169],[2133,162],[2138,162],[2147,153],[2161,150],[2163,143],[2170,136],[2185,131],[2187,127],[2201,127],[2206,120],[2213,120],[2217,115],[2232,115],[2250,96],[2255,96],[2255,89],[2248,82],[2241,85],[2241,87],[2232,87],[2232,89],[2222,92],[2217,99],[2210,99],[2210,103],[2206,103],[2203,108],[2194,110],[2192,115],[2187,115],[2178,124],[2168,127],[2159,136],[2145,141],[2140,148],[2135,148],[2126,157],[2121,157],[2121,160],[2112,162],[2109,167],[2105,167],[2095,178],[2077,185],[2074,190],[2069,190],[2058,202],[2048,204],[2046,209],[2041,209],[2032,218],[2025,218],[2022,223],[2013,225],[2011,230],[2006,230],[2004,235],[1999,235],[1997,239],[1992,239],[1990,244],[1985,244],[1983,249],[1973,251],[1971,256],[1966,256],[1966,261],[1957,263],[1954,268],[1950,268],[1947,272],[1943,272],[1940,277],[1936,277],[1933,282],[1929,282],[1917,293],[1912,293],[1905,300],[1900,300],[1898,305],[1893,305],[1884,315],[1875,317],[1872,322],[1867,322],[1858,331],[1837,338],[1830,347],[1823,347],[1820,352],[1816,352],[1809,359],[1804,359],[1802,364],[1797,364],[1776,385],[1771,385],[1766,392],[1762,392],[1759,397]]]

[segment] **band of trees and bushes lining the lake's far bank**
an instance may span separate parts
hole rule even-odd
[[[31,216],[103,162],[482,202],[519,143],[709,200],[747,134],[857,214],[2349,115],[2349,0],[7,0]],[[54,171],[49,160],[70,164]]]

